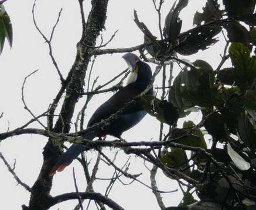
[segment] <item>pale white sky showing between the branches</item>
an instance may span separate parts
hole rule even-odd
[[[165,1],[162,21],[164,21],[173,2]],[[189,2],[189,6],[182,12],[182,31],[192,27],[193,13],[196,10],[201,10],[204,3],[205,1]],[[25,86],[26,103],[35,115],[39,115],[47,110],[47,107],[52,103],[54,96],[60,88],[59,77],[48,55],[47,44],[44,43],[42,37],[33,26],[33,1],[8,0],[4,5],[11,17],[13,26],[13,47],[10,50],[6,41],[4,51],[0,55],[0,113],[4,112],[4,117],[0,120],[0,132],[5,132],[8,129],[8,122],[9,129],[11,130],[25,124],[25,122],[32,118],[28,111],[23,108],[21,101],[21,86],[25,76],[39,69],[35,75],[28,79]],[[78,1],[37,0],[35,14],[40,29],[49,37],[60,8],[63,8],[63,13],[56,28],[56,33],[54,34],[52,47],[60,71],[66,77],[74,62],[76,43],[80,40],[81,36],[81,19]],[[86,15],[88,15],[90,1],[84,1],[84,9]],[[107,22],[105,24],[106,31],[103,33],[104,43],[109,40],[115,30],[118,29],[119,31],[114,40],[108,44],[107,48],[132,47],[143,42],[143,34],[132,20],[134,9],[138,12],[139,20],[143,21],[155,36],[158,36],[158,20],[151,0],[112,0],[108,6]],[[219,37],[221,38],[220,34]],[[223,43],[219,42],[210,50],[184,58],[190,61],[200,58],[209,62],[213,67],[217,67],[221,59],[219,56],[222,53],[222,51],[219,51],[222,49],[221,45]],[[219,53],[216,53],[216,51]],[[122,54],[103,55],[97,58],[92,78],[94,79],[100,75],[97,85],[107,82],[113,76],[118,75],[127,68],[127,64],[122,60],[121,56]],[[153,71],[155,65],[151,65],[151,67]],[[177,75],[180,69],[175,68],[174,71],[174,75]],[[158,86],[162,86],[160,75],[156,80]],[[112,85],[114,83],[110,86]],[[86,112],[88,117],[90,117],[96,107],[100,106],[111,95],[112,93],[104,93],[95,96],[88,105],[89,108]],[[82,98],[78,102],[76,113],[83,106],[84,100],[85,98]],[[88,118],[86,118],[86,122],[87,120]],[[192,116],[192,120],[199,120],[199,116]],[[45,122],[45,119],[42,121]],[[40,125],[34,123],[30,127],[40,128]],[[74,131],[74,126],[72,130]],[[125,132],[122,137],[127,141],[158,140],[158,131],[159,122],[147,115],[140,124],[130,131]],[[1,152],[10,164],[16,159],[16,174],[30,187],[35,182],[42,166],[42,149],[45,146],[46,140],[47,138],[43,136],[21,135],[5,139],[0,144]],[[109,149],[105,149],[104,151],[106,152],[107,150]],[[114,156],[115,151],[115,149],[112,149],[108,152],[110,157]],[[116,164],[121,167],[127,158],[126,155],[123,155],[123,152],[120,152]],[[92,159],[92,163],[89,166],[91,169],[95,160],[95,152],[88,152],[88,159]],[[129,172],[132,174],[142,172],[143,175],[139,177],[139,180],[150,184],[149,172],[145,169],[141,159],[131,156],[131,163],[131,170]],[[79,164],[74,161],[66,170],[54,176],[51,191],[53,196],[64,192],[75,191],[71,173],[73,166],[76,170],[78,188],[80,191],[85,190],[86,180],[83,176],[83,171]],[[25,191],[21,185],[16,185],[15,179],[6,169],[2,160],[0,160],[0,171],[0,208],[21,209],[22,204],[28,205],[29,192]],[[105,163],[101,163],[98,177],[111,177],[113,172],[114,170],[111,167],[106,167]],[[178,188],[175,181],[165,178],[162,173],[159,173],[157,178],[159,190],[170,191]],[[122,178],[122,180],[126,183],[131,181],[125,178]],[[104,194],[107,185],[108,181],[95,181],[94,190]],[[180,190],[172,194],[164,194],[163,201],[166,206],[178,205],[181,194]],[[159,209],[151,190],[136,182],[128,186],[123,186],[120,182],[115,183],[109,197],[125,209],[138,209],[138,206],[139,208],[143,206],[144,209]],[[76,204],[77,201],[63,202],[60,205],[53,206],[51,209],[72,209]],[[95,205],[91,204],[89,209],[95,209]]]

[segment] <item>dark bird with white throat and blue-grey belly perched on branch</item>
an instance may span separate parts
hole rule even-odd
[[[146,62],[141,61],[141,59],[133,53],[126,53],[122,58],[127,62],[129,71],[131,72],[128,77],[127,85],[95,110],[88,121],[87,128],[115,114],[124,107],[125,104],[142,93],[149,83],[151,83],[152,71]],[[153,89],[149,89],[146,95],[153,95]],[[101,138],[105,135],[112,135],[121,139],[122,133],[138,124],[145,115],[146,111],[142,106],[141,100],[136,98],[135,103],[132,104],[132,106],[128,106],[117,118],[111,121],[110,125],[104,128],[93,129],[92,132],[88,132],[82,136],[87,140],[93,140],[95,137]],[[53,166],[49,176],[53,176],[56,171],[63,171],[81,152],[88,149],[89,148],[86,148],[84,145],[73,143]]]

